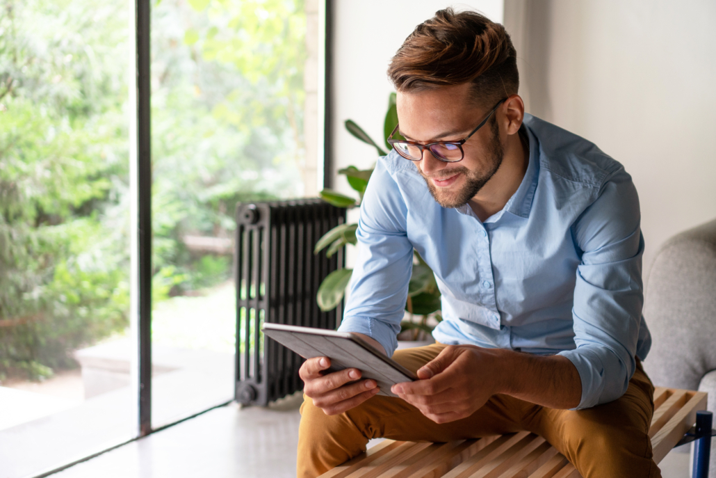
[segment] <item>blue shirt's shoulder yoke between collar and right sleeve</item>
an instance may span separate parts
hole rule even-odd
[[[526,114],[524,124],[539,145],[541,171],[555,181],[599,190],[614,174],[624,171],[619,161],[579,135],[533,115]]]

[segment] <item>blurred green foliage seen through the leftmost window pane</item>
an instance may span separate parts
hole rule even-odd
[[[0,378],[38,378],[127,322],[128,11],[0,12]]]

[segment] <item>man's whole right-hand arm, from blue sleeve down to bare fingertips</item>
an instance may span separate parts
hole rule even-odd
[[[644,252],[639,199],[623,168],[604,183],[573,233],[582,257],[574,350],[545,357],[453,346],[418,371],[426,380],[399,384],[394,393],[440,422],[467,416],[493,393],[550,408],[589,408],[623,395],[635,367]]]

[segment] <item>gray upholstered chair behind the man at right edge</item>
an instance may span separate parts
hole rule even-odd
[[[708,392],[708,409],[716,412],[716,220],[659,249],[644,317],[653,340],[644,369],[654,385]],[[716,440],[709,471],[716,478]]]

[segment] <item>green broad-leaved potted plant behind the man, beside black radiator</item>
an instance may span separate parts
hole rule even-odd
[[[388,110],[384,120],[384,138],[387,138],[398,122],[397,108],[395,105],[396,95],[391,93],[388,100]],[[364,143],[372,145],[379,156],[387,156],[385,150],[381,148],[372,138],[365,133],[354,121],[347,120],[345,123],[349,133],[354,135]],[[385,142],[387,150],[390,151],[390,144]],[[348,166],[340,171],[339,174],[346,176],[349,185],[358,193],[358,199],[346,196],[332,189],[324,189],[321,191],[321,198],[333,204],[334,206],[352,209],[359,207],[363,200],[365,188],[368,186],[373,169],[360,170],[355,166]],[[356,229],[358,224],[341,224],[328,231],[318,242],[314,249],[314,254],[318,254],[326,249],[326,256],[331,257],[342,247],[348,244],[357,244]],[[316,295],[316,302],[324,312],[337,307],[343,300],[346,287],[351,279],[353,269],[337,269],[324,279],[319,287]],[[412,276],[410,277],[410,285],[408,285],[407,301],[405,302],[405,310],[408,316],[401,322],[401,331],[398,335],[399,340],[410,341],[432,341],[432,329],[437,322],[442,320],[440,313],[440,290],[437,288],[435,275],[432,269],[425,264],[417,251],[413,252]],[[415,342],[410,346],[415,346]]]

